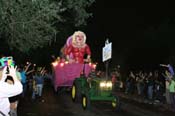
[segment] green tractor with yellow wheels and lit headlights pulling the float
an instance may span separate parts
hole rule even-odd
[[[113,110],[120,109],[120,100],[112,92],[111,80],[82,75],[74,80],[71,96],[74,102],[81,100],[84,110],[90,107],[92,101],[108,101],[111,102]]]

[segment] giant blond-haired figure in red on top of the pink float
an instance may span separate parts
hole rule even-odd
[[[87,57],[84,59],[84,56]],[[86,44],[86,35],[82,31],[76,31],[67,39],[64,46],[64,55],[69,63],[84,63],[89,62],[91,57],[91,50]]]

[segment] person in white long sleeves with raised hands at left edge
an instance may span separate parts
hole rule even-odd
[[[18,95],[22,92],[22,84],[17,79],[16,69],[9,67],[9,73],[6,74],[7,67],[0,69],[0,114],[2,116],[9,116],[10,103],[9,97]],[[14,84],[5,82],[7,78],[12,78]]]

